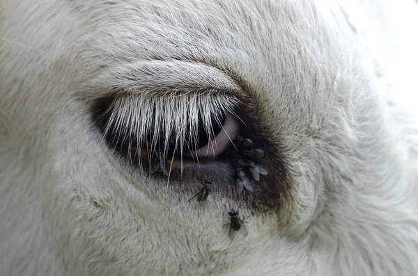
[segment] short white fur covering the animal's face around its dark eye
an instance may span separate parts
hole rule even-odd
[[[418,275],[417,5],[338,2],[0,0],[0,275]],[[156,57],[156,87],[237,72],[286,147],[291,203],[246,238],[93,127]]]

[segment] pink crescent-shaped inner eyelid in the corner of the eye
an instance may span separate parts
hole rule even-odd
[[[206,146],[192,152],[191,155],[197,157],[219,156],[228,149],[229,145],[231,145],[231,141],[237,138],[239,127],[238,120],[233,115],[229,115],[226,117],[222,129],[217,133],[215,139],[209,141]]]

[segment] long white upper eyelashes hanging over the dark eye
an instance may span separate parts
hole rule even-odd
[[[231,113],[240,101],[217,90],[207,90],[196,94],[188,92],[182,94],[156,95],[136,94],[118,96],[107,109],[109,120],[104,127],[103,136],[114,133],[116,143],[121,139],[128,145],[135,145],[137,152],[146,147],[148,158],[155,154],[167,157],[170,135],[175,133],[174,144],[181,152],[196,150],[199,130],[199,117],[206,133],[208,143],[213,143],[217,133],[212,129],[212,123],[222,125],[222,115]],[[159,130],[163,128],[162,133]],[[189,138],[186,138],[189,133]],[[148,145],[147,136],[153,137]],[[163,137],[163,145],[155,141]],[[131,156],[131,154],[128,154]],[[141,162],[141,159],[139,159]]]

